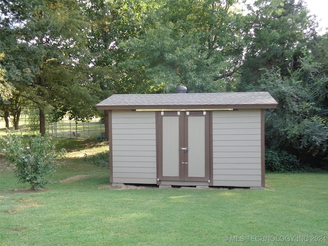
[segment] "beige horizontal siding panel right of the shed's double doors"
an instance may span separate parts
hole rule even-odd
[[[213,112],[213,186],[261,186],[261,111]]]

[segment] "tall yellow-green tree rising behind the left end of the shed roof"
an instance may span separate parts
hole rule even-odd
[[[119,67],[128,59],[129,52],[121,43],[129,42],[144,30],[142,19],[152,12],[155,1],[90,0],[86,14],[92,25],[88,34],[88,48],[94,54],[91,60],[92,80],[99,85],[101,99],[110,93],[130,93],[133,88],[124,80]]]

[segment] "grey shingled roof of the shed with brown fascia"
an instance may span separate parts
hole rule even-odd
[[[97,104],[99,110],[269,109],[277,101],[269,92],[114,94]]]

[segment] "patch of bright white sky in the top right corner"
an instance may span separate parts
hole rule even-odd
[[[328,1],[327,0],[303,0],[308,6],[311,14],[317,15],[319,27],[322,28],[320,34],[325,33],[328,28]],[[321,19],[321,20],[320,20]]]

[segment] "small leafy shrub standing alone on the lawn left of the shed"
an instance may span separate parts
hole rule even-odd
[[[1,137],[1,152],[8,159],[8,166],[15,166],[15,177],[23,183],[30,183],[31,189],[45,188],[56,171],[54,161],[65,157],[66,151],[57,152],[48,136],[29,136],[23,140],[22,133],[9,132]]]

